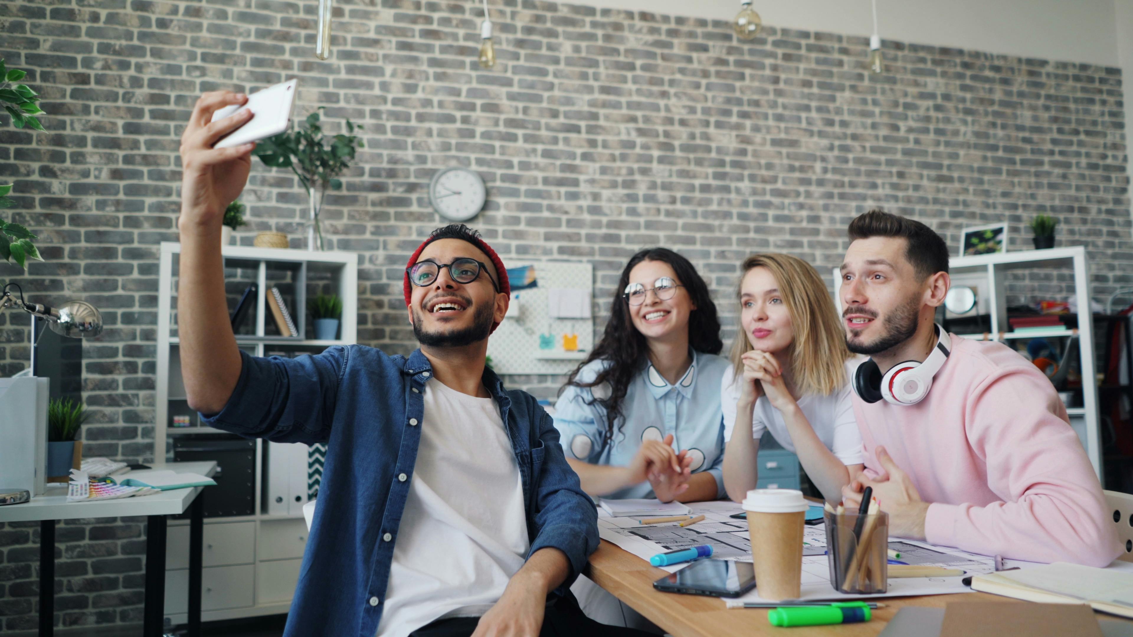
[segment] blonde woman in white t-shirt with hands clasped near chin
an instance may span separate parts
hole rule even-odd
[[[850,379],[861,362],[845,346],[818,272],[785,254],[743,262],[740,325],[724,374],[724,487],[743,500],[759,478],[759,438],[769,431],[799,456],[828,502],[862,470]]]

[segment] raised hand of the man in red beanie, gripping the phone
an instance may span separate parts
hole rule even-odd
[[[213,145],[252,120],[255,117],[252,110],[242,109],[212,121],[215,111],[247,101],[242,93],[215,91],[202,95],[193,108],[189,125],[181,135],[181,216],[177,226],[182,240],[186,235],[216,235],[219,241],[224,209],[248,181],[255,142],[228,148]]]

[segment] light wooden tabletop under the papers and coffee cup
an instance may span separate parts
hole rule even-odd
[[[649,566],[649,562],[605,540],[602,541],[598,550],[590,555],[590,570],[587,574],[595,584],[629,604],[674,637],[751,637],[752,635],[783,637],[783,630],[775,628],[767,621],[767,609],[727,610],[724,608],[724,602],[717,597],[655,591],[653,583],[665,575],[667,571]],[[790,637],[832,634],[836,634],[838,637],[874,636],[885,628],[885,625],[902,606],[944,606],[949,602],[977,601],[1022,603],[1010,597],[987,593],[885,597],[877,601],[887,604],[887,608],[874,611],[871,621],[792,628]]]

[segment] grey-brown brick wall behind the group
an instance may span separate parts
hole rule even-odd
[[[474,224],[504,258],[591,262],[600,313],[639,247],[681,250],[723,299],[755,250],[828,271],[849,220],[872,205],[951,246],[965,226],[1007,221],[1013,249],[1030,247],[1028,219],[1056,214],[1059,245],[1090,248],[1096,296],[1133,282],[1119,69],[886,42],[886,74],[869,76],[859,36],[765,27],[738,43],[721,22],[489,5],[500,61],[485,71],[471,1],[340,1],[327,61],[313,54],[314,1],[0,3],[0,54],[48,112],[46,133],[0,116],[8,214],[46,258],[0,278],[102,308],[107,332],[84,350],[88,455],[153,457],[156,244],[177,238],[178,136],[216,88],[299,77],[303,113],[325,104],[331,128],[365,125],[325,230],[359,253],[359,339],[390,350],[412,347],[402,264],[440,224],[425,186],[458,164],[488,182]],[[250,230],[301,246],[306,199],[290,173],[257,165],[242,199]],[[1066,292],[1037,274],[1016,286]],[[725,324],[734,314],[723,308]],[[26,325],[0,313],[0,375],[26,365]],[[35,626],[34,526],[0,525],[5,629]],[[62,525],[57,620],[137,621],[143,535],[138,520]]]

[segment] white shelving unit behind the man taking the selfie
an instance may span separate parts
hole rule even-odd
[[[172,436],[222,434],[202,426],[172,427],[170,404],[178,410],[185,400],[180,373],[180,340],[177,337],[176,296],[180,244],[161,244],[157,297],[157,384],[154,449],[157,460],[165,459]],[[343,252],[309,252],[296,249],[224,246],[222,255],[228,273],[242,273],[240,286],[255,282],[255,307],[245,322],[254,325],[253,333],[237,336],[240,349],[253,356],[275,351],[317,354],[334,345],[351,345],[358,336],[358,255]],[[271,336],[274,322],[265,291],[272,284],[287,287],[289,309],[299,337]],[[337,294],[342,299],[339,339],[316,340],[306,320],[308,289]],[[230,289],[229,292],[233,290]],[[239,331],[239,330],[238,330]],[[196,421],[193,421],[196,423]],[[202,619],[215,621],[286,613],[299,579],[299,567],[306,546],[307,527],[303,516],[267,515],[262,502],[266,479],[264,442],[256,441],[255,506],[250,516],[206,518],[204,526],[204,574]],[[170,523],[167,570],[165,617],[174,625],[187,621],[188,587],[188,520]]]

